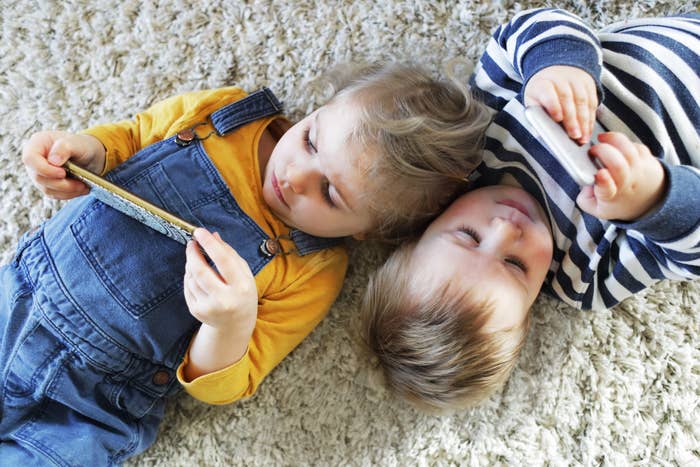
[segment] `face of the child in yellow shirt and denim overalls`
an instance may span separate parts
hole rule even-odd
[[[360,196],[367,154],[348,143],[356,115],[346,101],[325,105],[275,145],[264,171],[263,197],[287,225],[319,237],[360,237],[372,228]]]

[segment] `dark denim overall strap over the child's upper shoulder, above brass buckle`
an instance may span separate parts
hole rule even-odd
[[[268,88],[262,88],[243,99],[232,102],[211,114],[211,122],[219,136],[261,118],[282,111],[282,104]]]

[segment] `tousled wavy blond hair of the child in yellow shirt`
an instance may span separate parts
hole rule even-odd
[[[365,168],[370,236],[398,243],[420,233],[481,162],[488,108],[456,78],[435,79],[411,64],[340,65],[324,82],[331,102],[359,105],[350,142],[378,156]]]

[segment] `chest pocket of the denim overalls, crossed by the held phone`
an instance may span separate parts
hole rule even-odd
[[[182,217],[184,210],[191,216],[159,164],[125,188],[175,215]],[[71,231],[101,285],[132,316],[143,317],[182,293],[184,245],[97,200]]]

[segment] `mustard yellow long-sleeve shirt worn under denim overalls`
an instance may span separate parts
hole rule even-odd
[[[107,172],[143,147],[205,122],[212,112],[245,95],[235,87],[191,92],[159,102],[133,120],[96,126],[84,133],[98,138],[107,149]],[[260,119],[224,137],[213,135],[202,142],[240,208],[271,237],[289,232],[263,200],[258,165],[260,137],[275,118],[280,117]],[[207,123],[196,131],[206,136],[212,129]],[[291,244],[284,243],[286,250],[291,249]],[[246,354],[227,368],[187,382],[183,368],[188,352],[178,368],[185,390],[211,404],[252,395],[263,378],[325,316],[340,291],[346,269],[343,247],[273,258],[255,276],[258,316]]]

